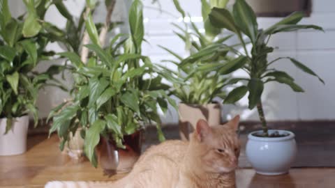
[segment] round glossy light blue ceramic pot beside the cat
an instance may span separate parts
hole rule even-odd
[[[288,136],[278,138],[263,138],[254,136],[257,132],[248,135],[246,143],[246,157],[257,173],[262,175],[280,175],[288,173],[297,154],[295,134],[285,130],[269,130],[269,133],[278,131]]]

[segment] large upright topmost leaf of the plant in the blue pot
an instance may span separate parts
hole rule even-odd
[[[237,0],[234,3],[232,13],[234,15],[235,24],[244,34],[246,34],[246,36],[251,39],[251,42],[255,42],[258,31],[258,23],[251,6],[249,6],[245,0]]]

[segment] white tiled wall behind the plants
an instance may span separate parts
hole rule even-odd
[[[149,1],[144,2],[151,7]],[[192,17],[200,17],[200,1],[182,0],[181,6]],[[161,7],[168,13],[159,13],[152,8],[144,10],[146,20],[146,38],[150,45],[145,45],[144,54],[151,56],[153,61],[172,58],[168,53],[156,47],[164,45],[175,52],[186,56],[184,43],[174,36],[174,27],[169,22],[180,24],[180,15],[175,10],[171,1],[161,1]],[[294,93],[288,86],[283,84],[268,84],[263,93],[263,103],[268,120],[334,120],[335,119],[335,1],[313,0],[313,13],[311,17],[304,18],[301,24],[318,24],[325,29],[320,31],[298,31],[281,33],[271,38],[269,44],[278,47],[275,53],[269,56],[274,59],[278,56],[292,56],[306,63],[322,79],[324,86],[318,79],[297,70],[289,61],[276,63],[276,68],[287,71],[294,77],[306,93]],[[175,15],[175,16],[172,16]],[[259,18],[260,27],[267,27],[277,22],[278,18]],[[201,28],[202,24],[199,22]],[[169,63],[164,65],[172,66]],[[234,113],[241,113],[246,120],[258,120],[255,110],[249,111],[245,108],[247,98],[239,102],[240,106],[223,106],[223,116],[227,117]],[[177,113],[167,114],[164,118],[167,123],[177,123]]]

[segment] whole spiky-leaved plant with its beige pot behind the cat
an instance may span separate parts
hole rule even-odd
[[[173,86],[170,91],[170,95],[181,100],[179,103],[179,135],[183,140],[188,139],[188,134],[195,129],[199,119],[207,120],[209,125],[221,123],[221,105],[214,102],[214,97],[225,97],[226,93],[222,88],[229,79],[227,75],[208,74],[207,71],[198,69],[200,63],[216,62],[228,58],[226,56],[228,51],[217,52],[215,49],[230,38],[230,36],[220,36],[221,29],[212,26],[208,18],[212,7],[224,8],[228,1],[201,2],[204,33],[200,32],[200,29],[191,20],[191,16],[189,17],[192,31],[189,31],[190,26],[186,22],[184,22],[185,29],[174,24],[178,30],[174,33],[185,42],[186,50],[190,55],[183,58],[172,50],[162,47],[177,59],[169,61],[177,66],[177,71],[165,69],[175,77],[184,79],[181,84],[172,81]],[[174,1],[174,6],[185,19],[186,13],[181,8],[179,1]],[[200,50],[204,50],[205,53],[198,54]]]

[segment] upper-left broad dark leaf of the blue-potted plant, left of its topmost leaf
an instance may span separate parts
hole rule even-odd
[[[239,33],[239,29],[234,23],[234,19],[230,12],[225,8],[212,8],[209,13],[211,24],[217,28],[225,28],[234,33]]]

